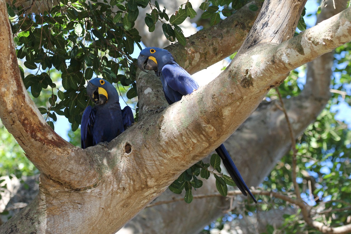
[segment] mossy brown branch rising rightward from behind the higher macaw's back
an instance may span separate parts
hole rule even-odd
[[[257,11],[249,6],[255,4]],[[179,43],[167,46],[181,67],[190,74],[201,71],[236,52],[247,37],[257,18],[262,1],[251,1],[219,24],[198,31],[186,39],[186,46]]]

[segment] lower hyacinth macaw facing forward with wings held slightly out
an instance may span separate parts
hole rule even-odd
[[[80,133],[83,149],[99,143],[106,145],[134,122],[132,109],[126,106],[121,110],[118,92],[108,81],[100,78],[90,80],[87,94],[95,106],[88,106],[82,116]]]

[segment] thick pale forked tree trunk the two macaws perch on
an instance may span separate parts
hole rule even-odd
[[[28,98],[16,62],[5,1],[0,1],[0,117],[41,172],[37,198],[0,231],[118,230],[181,172],[228,138],[289,71],[351,40],[351,13],[347,9],[323,25],[278,44],[288,38],[286,28],[292,35],[304,5],[289,2],[292,8],[280,18],[279,38],[271,37],[265,44],[245,44],[242,53],[210,85],[141,120],[108,147],[83,150],[54,133]],[[275,13],[282,13],[280,7],[275,1],[266,1],[261,13],[276,8],[274,18]],[[266,27],[272,26],[270,19],[258,19],[256,28],[264,22],[268,23]],[[266,36],[269,33],[259,41],[267,40]],[[252,38],[255,35],[249,40]],[[126,145],[131,152],[125,152]]]

